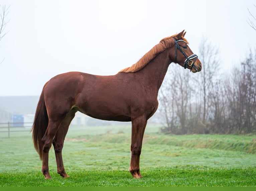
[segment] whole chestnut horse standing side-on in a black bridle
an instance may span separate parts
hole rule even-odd
[[[48,154],[54,147],[57,172],[67,178],[62,148],[69,125],[77,111],[102,120],[131,121],[131,161],[129,171],[140,178],[139,160],[147,120],[155,113],[158,90],[170,63],[193,73],[202,64],[184,38],[184,30],[164,38],[137,63],[113,76],[68,72],[51,78],[43,87],[33,126],[33,143],[42,160],[45,179],[51,178]]]

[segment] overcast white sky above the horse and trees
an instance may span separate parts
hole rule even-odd
[[[50,78],[69,71],[114,75],[162,38],[183,29],[194,53],[199,53],[203,37],[219,47],[226,71],[256,47],[256,31],[247,23],[247,8],[256,15],[255,0],[0,0],[0,4],[10,5],[8,33],[0,41],[0,61],[4,59],[0,96],[40,95]]]

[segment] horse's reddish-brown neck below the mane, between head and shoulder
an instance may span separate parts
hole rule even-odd
[[[154,87],[157,92],[162,85],[168,66],[171,62],[166,55],[166,52],[167,51],[164,51],[157,55],[141,71],[145,78],[145,83],[147,83],[150,88]]]

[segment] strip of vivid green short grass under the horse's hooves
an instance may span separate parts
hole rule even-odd
[[[44,180],[39,172],[2,173],[1,186],[256,186],[255,168],[145,170],[141,179],[127,171],[75,171],[64,179],[52,174]]]

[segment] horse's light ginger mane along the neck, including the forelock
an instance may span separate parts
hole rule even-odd
[[[172,47],[175,43],[173,38],[176,35],[172,35],[170,37],[166,37],[162,39],[157,45],[155,45],[150,51],[148,51],[138,62],[133,64],[131,67],[125,68],[119,72],[137,72],[144,68],[151,60],[153,60],[159,53],[163,52],[164,50]],[[178,39],[176,39],[178,40]],[[181,40],[185,41],[187,44],[187,40],[182,36]]]

